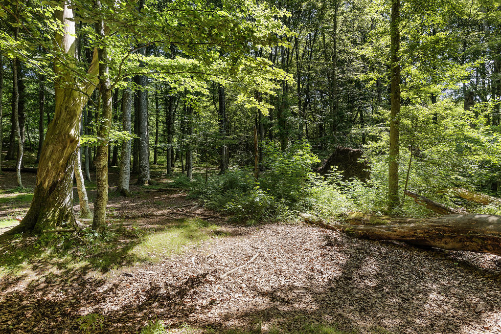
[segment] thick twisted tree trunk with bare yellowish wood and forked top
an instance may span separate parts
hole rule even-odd
[[[40,233],[46,229],[75,225],[72,187],[75,154],[80,137],[78,130],[87,96],[97,84],[95,76],[98,73],[98,58],[97,51],[94,50],[88,71],[91,81],[78,82],[71,70],[76,65],[72,62],[75,55],[73,11],[67,3],[61,4],[61,7],[63,11],[56,12],[56,19],[63,24],[64,34],[56,36],[54,45],[56,52],[61,51],[69,56],[70,63],[55,63],[56,78],[61,78],[61,82],[55,83],[54,119],[49,124],[42,146],[33,201],[21,223],[7,234]]]

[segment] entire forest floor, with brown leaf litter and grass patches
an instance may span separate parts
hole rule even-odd
[[[15,179],[0,175],[0,232],[31,201],[9,190]],[[35,174],[23,181],[34,187]],[[501,333],[501,257],[304,224],[123,218],[191,202],[182,191],[131,190],[110,189],[110,215],[133,224],[103,243],[0,244],[0,332],[135,333],[163,321],[172,333]]]

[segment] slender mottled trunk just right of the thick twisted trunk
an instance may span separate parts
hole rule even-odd
[[[98,8],[101,8],[100,0],[96,1]],[[104,21],[96,22],[96,34],[105,39]],[[99,87],[101,91],[101,119],[98,123],[97,136],[98,145],[96,147],[96,157],[94,166],[96,167],[96,199],[94,201],[94,219],[92,229],[100,230],[106,221],[106,204],[108,203],[108,152],[109,152],[109,129],[113,117],[112,91],[110,78],[108,76],[108,51],[105,46],[98,49],[99,57]]]

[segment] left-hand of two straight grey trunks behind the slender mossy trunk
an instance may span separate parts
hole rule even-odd
[[[130,79],[126,79],[130,82]],[[134,102],[134,94],[130,88],[126,88],[122,94],[122,131],[131,133],[131,112],[132,103]],[[130,151],[131,140],[124,140],[122,142],[122,153],[120,159],[120,177],[118,180],[118,192],[122,196],[129,197],[129,183],[130,183]]]

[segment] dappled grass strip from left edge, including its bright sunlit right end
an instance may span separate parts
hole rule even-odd
[[[83,274],[84,268],[104,273],[136,263],[152,263],[182,252],[189,244],[222,235],[216,230],[216,225],[189,218],[148,228],[115,225],[103,233],[87,228],[79,233],[80,238],[72,238],[70,233],[40,237],[17,234],[0,243],[0,277],[53,272],[56,278],[63,278],[63,272],[79,270]]]

